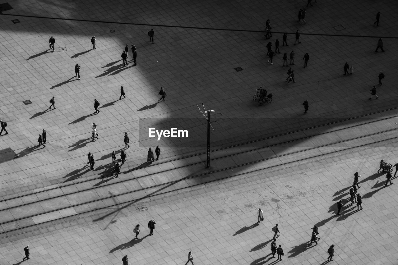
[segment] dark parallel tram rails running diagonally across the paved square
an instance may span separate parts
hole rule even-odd
[[[390,117],[390,119],[391,119],[391,117]],[[378,122],[378,121],[368,122],[368,123],[365,123],[365,124],[376,123],[376,122]],[[362,125],[363,125],[363,124],[362,124]],[[357,126],[361,126],[361,125],[355,125],[355,126],[352,126],[352,127],[357,127]],[[352,127],[351,127],[351,128],[352,128]],[[344,129],[349,129],[349,128],[344,128]],[[339,129],[339,130],[336,130],[336,131],[341,131],[341,130],[343,130],[343,129]],[[220,177],[220,176],[218,176],[218,178],[215,178],[215,179],[214,179],[214,178],[212,178],[212,179],[210,179],[210,180],[205,180],[205,179],[203,179],[203,178],[205,178],[205,177],[209,177],[209,175],[212,175],[212,174],[213,174],[213,175],[216,175],[217,173],[222,172],[222,171],[236,170],[236,169],[238,169],[238,168],[240,168],[240,167],[250,166],[250,165],[252,165],[252,164],[257,164],[257,163],[259,163],[259,162],[266,162],[267,160],[275,160],[275,159],[283,158],[283,157],[286,157],[286,156],[292,156],[292,155],[298,154],[298,153],[300,153],[300,152],[304,152],[304,153],[305,153],[305,152],[310,152],[310,151],[312,151],[312,150],[315,150],[315,149],[318,149],[318,148],[325,148],[325,147],[327,147],[327,146],[332,147],[333,145],[337,145],[337,144],[340,144],[340,143],[349,142],[349,141],[353,141],[353,140],[359,140],[359,139],[361,139],[361,138],[366,138],[366,137],[371,137],[371,136],[376,136],[377,134],[382,135],[382,134],[390,133],[390,132],[393,132],[393,131],[396,131],[396,128],[394,128],[394,129],[388,129],[388,130],[384,130],[384,131],[380,131],[380,132],[377,132],[377,133],[365,134],[365,135],[360,136],[360,137],[349,138],[349,139],[345,139],[345,140],[341,140],[341,141],[335,141],[335,142],[331,142],[331,143],[329,143],[329,144],[324,144],[324,145],[321,145],[321,146],[315,146],[315,147],[312,147],[312,148],[306,148],[306,149],[298,150],[298,151],[295,151],[295,152],[287,152],[287,153],[285,153],[285,154],[281,154],[281,155],[277,155],[277,156],[273,156],[273,157],[269,157],[269,158],[265,158],[265,159],[254,160],[254,161],[250,161],[250,162],[248,162],[248,163],[239,164],[239,165],[236,165],[236,166],[230,166],[230,167],[227,167],[227,168],[221,168],[221,169],[219,169],[219,170],[204,171],[204,172],[199,173],[199,174],[191,174],[191,175],[188,175],[187,177],[183,177],[183,178],[181,178],[181,179],[177,179],[177,180],[173,180],[173,181],[166,181],[166,182],[163,182],[163,183],[160,183],[160,184],[151,185],[151,186],[148,186],[148,187],[143,187],[143,188],[141,188],[141,189],[136,189],[136,190],[133,190],[133,191],[126,191],[126,192],[124,192],[124,193],[119,193],[119,194],[107,196],[107,197],[105,197],[105,198],[99,198],[99,199],[95,199],[95,200],[91,200],[91,201],[86,201],[86,202],[78,203],[78,204],[71,205],[71,206],[68,206],[68,207],[60,207],[60,208],[57,208],[56,210],[53,210],[53,211],[47,211],[47,212],[45,212],[44,214],[51,213],[51,212],[54,212],[54,211],[62,211],[62,210],[65,210],[65,209],[68,209],[68,208],[71,208],[71,207],[73,208],[73,207],[79,207],[79,206],[82,206],[82,205],[89,205],[90,203],[97,203],[97,202],[102,201],[102,200],[105,200],[105,199],[117,198],[117,197],[129,195],[129,194],[135,194],[135,195],[139,195],[139,196],[141,196],[141,197],[140,197],[139,199],[133,199],[133,200],[128,200],[128,201],[123,201],[123,202],[120,202],[120,203],[115,203],[115,204],[113,204],[113,205],[106,205],[105,207],[98,207],[98,208],[96,208],[95,210],[101,210],[101,209],[104,209],[104,208],[113,207],[113,206],[122,205],[122,204],[137,203],[137,202],[139,202],[139,201],[141,201],[141,200],[143,200],[143,199],[146,199],[146,198],[155,197],[155,196],[158,197],[159,195],[164,195],[164,194],[170,193],[170,192],[172,192],[172,191],[179,191],[179,190],[182,190],[182,189],[189,189],[189,188],[195,187],[195,186],[197,186],[197,185],[204,185],[204,184],[206,184],[206,183],[211,183],[211,182],[214,182],[214,181],[220,181],[220,180],[222,180],[222,179],[227,179],[227,178],[232,177],[231,175],[226,174],[226,177]],[[327,132],[327,133],[334,133],[334,132],[330,131],[330,132]],[[327,133],[323,133],[323,134],[327,134]],[[320,135],[322,135],[322,134],[318,134],[318,136],[320,136]],[[273,145],[273,146],[267,146],[267,147],[264,147],[264,149],[265,149],[265,148],[270,149],[270,148],[275,147],[275,146],[278,146],[278,145],[289,144],[289,143],[291,143],[291,142],[300,141],[300,140],[305,140],[305,139],[312,138],[312,137],[314,137],[314,136],[307,136],[307,137],[300,138],[300,139],[297,139],[297,140],[292,140],[292,141],[288,141],[288,142],[283,142],[283,143],[281,143],[281,144],[275,144],[275,145]],[[295,159],[295,160],[293,160],[293,161],[289,161],[289,162],[285,162],[285,163],[274,164],[274,165],[272,165],[272,166],[270,166],[270,167],[265,167],[265,168],[262,168],[262,169],[272,168],[272,167],[276,167],[276,166],[283,166],[283,165],[286,165],[286,164],[289,164],[289,163],[292,163],[292,162],[299,162],[299,161],[303,161],[303,160],[306,160],[306,159],[309,159],[309,158],[312,158],[312,159],[313,159],[313,158],[317,158],[317,157],[320,157],[320,156],[330,155],[330,154],[334,154],[334,153],[336,153],[336,152],[342,152],[342,151],[350,150],[350,149],[353,149],[353,148],[360,148],[360,147],[363,147],[363,146],[367,146],[367,145],[369,145],[369,144],[374,144],[374,143],[378,143],[378,142],[383,142],[383,141],[386,141],[386,140],[393,140],[393,139],[397,139],[397,138],[398,138],[398,137],[394,136],[394,137],[391,137],[391,138],[386,138],[386,139],[382,139],[382,140],[379,140],[379,141],[372,141],[372,142],[370,142],[370,143],[365,143],[365,144],[357,145],[357,146],[354,146],[354,147],[348,147],[348,148],[343,148],[343,149],[339,149],[339,150],[333,150],[332,152],[328,152],[328,153],[321,152],[321,154],[318,154],[318,155],[315,155],[315,156],[310,156],[310,157],[307,156],[307,157],[302,158],[302,159],[297,159],[297,160]],[[333,148],[332,148],[332,149],[333,149]],[[249,153],[249,152],[259,152],[259,151],[258,151],[258,149],[256,149],[256,150],[250,150],[250,151],[240,152],[240,153],[238,153],[238,154],[233,154],[233,155],[229,155],[229,156],[224,156],[224,157],[217,158],[217,160],[225,159],[225,158],[228,158],[228,157],[231,157],[231,156],[240,156],[240,155],[242,155],[242,154],[247,154],[247,153]],[[261,152],[261,151],[260,151],[260,152]],[[310,153],[312,153],[312,152],[310,152]],[[281,160],[281,161],[282,161],[282,160]],[[200,164],[203,164],[203,163],[204,163],[204,162],[198,162],[198,163],[195,163],[195,164],[192,164],[192,165],[182,166],[181,168],[183,168],[183,167],[197,166],[197,165],[200,165]],[[172,169],[172,170],[178,170],[178,168]],[[168,171],[171,171],[171,170],[168,170]],[[255,171],[258,171],[258,169],[252,170],[252,171],[246,171],[246,172],[244,172],[244,173],[242,173],[242,174],[253,173],[253,172],[255,172]],[[138,177],[138,178],[135,178],[135,179],[126,179],[126,180],[123,180],[123,181],[111,183],[111,184],[109,184],[109,185],[107,185],[107,186],[105,186],[105,187],[109,189],[109,187],[111,187],[112,185],[117,185],[117,184],[124,183],[124,182],[127,182],[127,181],[134,181],[134,180],[137,180],[137,179],[139,179],[139,178],[148,177],[148,176],[153,176],[153,175],[155,175],[155,174],[163,174],[164,172],[167,172],[167,171],[162,171],[162,172],[160,172],[160,173],[154,173],[154,174],[148,174],[148,175],[144,175],[144,176],[141,176],[141,177]],[[240,175],[240,174],[241,174],[241,173],[238,173],[237,175]],[[236,175],[234,175],[234,176],[236,176]],[[179,182],[181,182],[181,181],[187,181],[187,180],[189,180],[189,179],[201,179],[201,182],[200,182],[200,183],[194,183],[194,184],[191,184],[191,185],[189,185],[189,183],[188,183],[188,185],[185,186],[185,187],[177,187],[177,186],[174,186],[174,185],[176,185],[176,183],[179,183]],[[74,184],[73,184],[73,185],[74,185]],[[104,187],[104,186],[102,186],[102,187]],[[169,187],[173,187],[173,189],[171,189],[170,191],[168,191],[167,189],[168,189]],[[89,190],[94,190],[94,189],[98,189],[98,188],[100,188],[100,187],[93,187],[93,188],[91,188],[91,189],[89,189]],[[157,190],[156,190],[156,189],[157,189]],[[156,190],[156,191],[154,191],[154,190]],[[165,191],[164,191],[164,190],[165,190]],[[86,191],[86,190],[84,190],[84,191]],[[76,191],[76,192],[74,192],[74,193],[69,193],[68,195],[76,195],[77,193],[82,193],[82,192],[84,192],[84,191]],[[60,196],[58,196],[58,197],[51,197],[51,198],[48,198],[48,199],[39,200],[39,201],[35,201],[35,202],[32,202],[32,203],[26,203],[26,204],[23,204],[22,206],[23,206],[23,207],[26,207],[26,206],[32,205],[32,204],[34,204],[34,203],[41,203],[41,202],[44,202],[44,201],[47,201],[47,200],[57,199],[57,198],[59,198],[59,197],[65,197],[65,196],[67,196],[67,195],[60,195]],[[138,197],[139,197],[139,196],[138,196]],[[22,196],[21,196],[21,197],[22,197]],[[115,201],[118,201],[118,200],[115,200]],[[4,210],[10,210],[10,209],[17,208],[17,207],[21,207],[21,206],[14,206],[14,207],[2,209],[2,210],[0,210],[0,214],[1,214],[1,212],[4,211]],[[70,215],[70,216],[76,216],[76,215],[80,215],[80,214],[86,214],[86,213],[89,213],[89,212],[92,212],[92,211],[93,211],[93,209],[90,209],[90,210],[88,210],[88,211],[79,212],[79,213],[77,213],[77,214],[74,214],[74,215],[72,214],[72,215]],[[33,218],[33,217],[39,216],[39,215],[41,215],[41,214],[43,214],[43,213],[33,214],[33,215],[29,215],[29,216],[24,216],[23,218],[14,218],[13,220],[9,220],[9,221],[7,221],[7,222],[2,222],[2,223],[0,223],[0,226],[7,225],[7,224],[9,224],[9,223],[11,223],[11,222],[23,221],[23,220],[25,220],[26,218]],[[55,219],[55,220],[57,220],[57,219]],[[31,226],[35,226],[35,225],[37,225],[37,224],[33,224],[33,225],[31,225]],[[25,227],[30,227],[30,226],[25,226]],[[25,228],[25,227],[24,227],[24,228]],[[11,230],[5,231],[4,228],[3,228],[3,230],[5,231],[4,233],[12,232],[12,231],[14,231],[14,230],[19,230],[19,229],[21,229],[21,228],[16,228],[16,229],[11,229]]]

